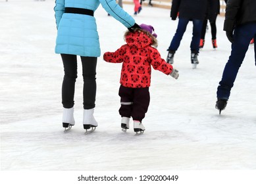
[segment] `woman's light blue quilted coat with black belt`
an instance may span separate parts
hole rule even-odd
[[[115,0],[56,0],[54,8],[57,24],[55,53],[99,57],[99,35],[95,17],[86,14],[64,13],[65,7],[95,11],[99,4],[126,28],[135,24],[134,18],[120,8]]]

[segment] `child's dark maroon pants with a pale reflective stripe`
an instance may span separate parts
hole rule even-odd
[[[119,114],[123,117],[142,121],[149,107],[149,87],[131,88],[120,85],[118,95],[121,97]]]

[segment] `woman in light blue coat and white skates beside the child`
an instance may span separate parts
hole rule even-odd
[[[96,65],[101,55],[99,35],[94,11],[99,4],[132,31],[138,28],[134,18],[125,12],[115,0],[56,0],[54,8],[57,24],[55,53],[61,54],[64,66],[62,87],[63,127],[65,131],[74,126],[74,89],[77,78],[77,58],[82,60],[84,78],[84,120],[86,131],[94,130],[97,122],[93,116],[96,96]]]

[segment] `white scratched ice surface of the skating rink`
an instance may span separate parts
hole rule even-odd
[[[211,28],[199,65],[192,69],[188,25],[174,58],[180,78],[153,70],[151,102],[143,135],[120,128],[118,108],[121,64],[102,59],[124,44],[126,28],[101,7],[95,12],[101,43],[97,63],[95,119],[99,126],[84,135],[82,74],[78,65],[76,125],[63,133],[63,64],[54,53],[57,29],[53,0],[0,1],[0,116],[2,171],[256,170],[256,67],[249,47],[226,110],[215,109],[216,91],[231,45],[217,18],[217,43]],[[133,14],[133,6],[124,9]],[[138,24],[151,24],[159,52],[166,49],[178,20],[170,10],[144,6]]]

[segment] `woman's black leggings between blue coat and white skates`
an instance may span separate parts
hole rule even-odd
[[[61,54],[64,66],[62,103],[64,108],[74,106],[74,89],[77,78],[76,55]],[[97,57],[81,57],[84,79],[84,109],[95,107]]]

